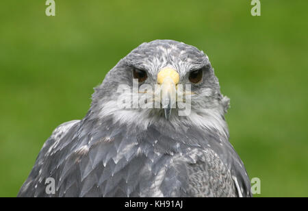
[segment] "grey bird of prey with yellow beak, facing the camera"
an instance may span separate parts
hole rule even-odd
[[[121,85],[132,91],[118,91]],[[172,97],[180,85],[190,91]],[[140,108],[136,97],[162,106]],[[132,106],[119,106],[120,98]],[[190,112],[180,115],[185,99]],[[229,142],[228,108],[203,51],[174,40],[145,42],[94,89],[84,119],[55,129],[18,197],[251,197]]]

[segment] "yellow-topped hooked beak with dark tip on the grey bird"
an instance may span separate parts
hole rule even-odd
[[[164,68],[157,75],[157,84],[161,85],[162,108],[166,120],[170,119],[171,110],[175,108],[177,100],[177,84],[179,84],[179,73],[171,68]]]

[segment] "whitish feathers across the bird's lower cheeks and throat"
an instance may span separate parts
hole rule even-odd
[[[207,89],[204,95],[209,95],[210,89]],[[131,93],[123,93],[129,98]],[[146,95],[146,94],[142,94]],[[193,101],[194,99],[192,99]],[[202,102],[200,102],[202,103]],[[105,117],[112,116],[114,123],[122,123],[127,125],[136,125],[146,130],[150,125],[164,125],[166,124],[166,119],[164,119],[163,110],[158,108],[119,108],[118,101],[111,100],[105,101],[101,100],[99,103],[99,118],[104,119]],[[131,101],[133,105],[133,101]],[[191,112],[188,116],[179,116],[178,110],[172,110],[172,116],[170,118],[170,123],[177,128],[181,128],[181,125],[194,125],[196,127],[207,128],[207,129],[217,129],[220,134],[228,137],[227,123],[222,119],[224,115],[224,109],[222,105],[217,103],[217,105],[212,108],[201,108],[198,105],[198,101],[192,103]]]

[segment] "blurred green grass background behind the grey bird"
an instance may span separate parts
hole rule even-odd
[[[257,197],[308,196],[308,1],[3,1],[0,197],[15,197],[57,125],[82,119],[92,88],[155,39],[203,49],[224,95],[231,142]]]

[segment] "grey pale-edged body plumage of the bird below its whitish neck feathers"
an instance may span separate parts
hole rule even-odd
[[[97,140],[90,138],[94,132],[110,127],[109,123],[95,124],[86,117],[68,123],[66,133],[56,136],[60,140],[54,139],[57,134],[53,134],[18,196],[235,197],[232,176],[238,178],[242,194],[250,195],[242,161],[229,141],[215,130],[190,128],[190,133],[184,134],[150,126],[136,134],[128,133],[129,126],[121,125],[116,134],[102,133],[104,136],[97,136]],[[88,136],[82,135],[83,130],[88,131]],[[112,142],[101,141],[107,136],[113,137]],[[62,137],[74,138],[68,141]],[[95,144],[83,147],[90,140]],[[44,182],[49,177],[57,182],[55,195],[45,192]]]

